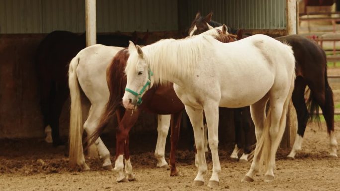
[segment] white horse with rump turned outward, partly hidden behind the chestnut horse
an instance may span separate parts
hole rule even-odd
[[[69,66],[69,88],[71,97],[69,157],[71,164],[78,164],[84,170],[89,170],[90,168],[86,164],[83,154],[83,128],[87,134],[91,135],[98,126],[110,94],[106,82],[106,67],[111,63],[114,55],[121,49],[123,48],[100,44],[93,45],[81,50],[71,60]],[[79,87],[78,84],[81,87]],[[82,120],[80,88],[91,102],[88,118],[84,125]],[[158,139],[155,149],[155,156],[158,160],[157,167],[169,168],[164,158],[164,149],[170,119],[170,115],[158,115]],[[103,168],[112,170],[110,153],[100,138],[95,141],[95,146],[99,157],[103,160]]]

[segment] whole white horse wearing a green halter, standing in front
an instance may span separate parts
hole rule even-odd
[[[161,40],[143,48],[135,48],[130,42],[129,52],[125,69],[126,88],[140,92],[149,78],[151,85],[170,81],[185,104],[193,125],[198,155],[196,185],[204,184],[207,173],[203,110],[213,161],[208,186],[219,183],[219,106],[251,105],[257,146],[244,180],[252,181],[262,162],[266,165],[265,180],[272,180],[275,154],[284,132],[287,104],[294,87],[295,59],[290,46],[265,35],[254,35],[232,43],[221,43],[211,36],[198,35],[180,40]],[[153,76],[150,76],[151,72]],[[127,109],[133,109],[137,100],[130,92],[126,91],[123,96]],[[271,105],[266,117],[268,100]]]

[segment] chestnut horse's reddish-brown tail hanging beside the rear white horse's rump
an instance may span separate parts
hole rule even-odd
[[[107,86],[110,92],[109,100],[106,104],[104,113],[100,117],[99,125],[93,133],[91,140],[96,140],[104,131],[105,127],[113,117],[115,111],[121,106],[122,98],[125,92],[126,78],[124,77],[124,69],[126,61],[129,57],[127,49],[120,50],[113,58],[111,64],[106,70]],[[118,119],[119,121],[120,119]],[[93,141],[91,142],[93,143]]]

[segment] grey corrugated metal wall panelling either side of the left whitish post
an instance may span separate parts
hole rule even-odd
[[[174,31],[177,1],[97,0],[97,32]],[[85,31],[85,0],[0,0],[0,33]]]

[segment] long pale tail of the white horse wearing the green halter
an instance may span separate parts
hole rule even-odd
[[[288,110],[288,106],[289,106],[289,101],[291,100],[292,97],[292,93],[294,90],[294,82],[295,82],[295,70],[293,70],[293,75],[291,78],[291,82],[290,82],[290,89],[289,89],[289,93],[287,95],[287,98],[284,102],[283,105],[283,111],[282,111],[282,115],[281,115],[281,119],[280,119],[280,123],[279,123],[279,130],[277,133],[277,138],[275,140],[275,142],[273,142],[273,144],[271,144],[271,139],[270,139],[270,126],[271,126],[271,110],[269,109],[269,111],[267,112],[267,118],[264,122],[264,129],[262,132],[262,136],[260,137],[260,140],[257,142],[257,156],[259,157],[259,165],[262,166],[262,164],[264,164],[264,169],[268,169],[268,165],[269,165],[269,161],[270,161],[270,152],[271,149],[274,148],[275,149],[275,154],[276,151],[281,143],[282,140],[282,136],[286,127],[286,118],[287,118],[287,110]],[[257,147],[256,146],[256,147]],[[256,152],[256,150],[255,150]],[[255,153],[256,154],[256,153]]]

